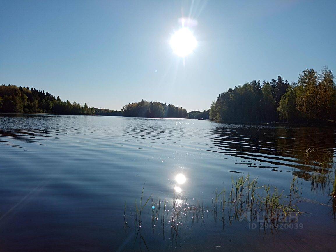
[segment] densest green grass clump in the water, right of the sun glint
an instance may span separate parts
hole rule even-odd
[[[213,194],[215,196],[212,201],[213,216],[216,219],[218,206],[223,206],[221,208],[221,221],[224,223],[224,205],[228,203],[230,220],[228,223],[231,222],[232,217],[235,220],[242,221],[247,219],[250,221],[263,216],[264,221],[274,221],[283,216],[283,221],[284,218],[291,214],[294,214],[294,216],[300,214],[299,209],[293,206],[293,201],[299,196],[300,188],[296,177],[294,177],[290,185],[290,195],[287,197],[284,195],[284,191],[279,192],[278,188],[270,184],[257,186],[257,178],[250,181],[249,175],[240,176],[236,180],[232,178],[232,188],[228,195],[228,200],[218,201],[218,196],[225,193],[225,188],[220,193],[217,193],[216,189],[215,194]],[[287,198],[289,198],[289,201],[286,201]]]

